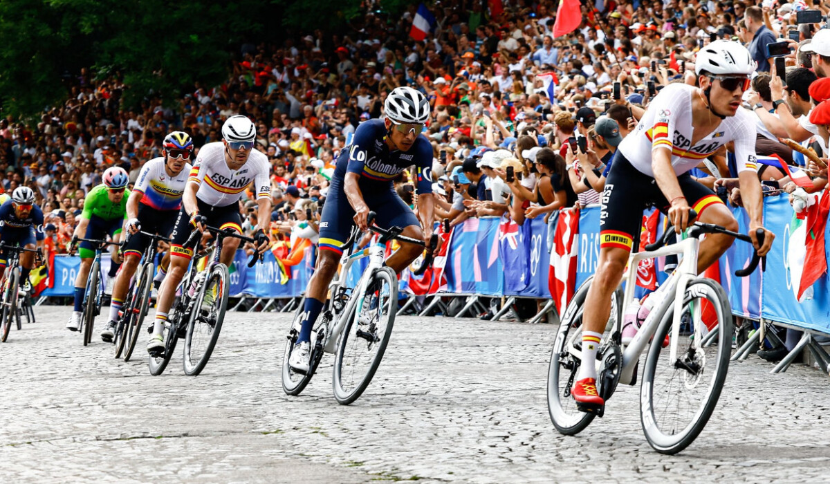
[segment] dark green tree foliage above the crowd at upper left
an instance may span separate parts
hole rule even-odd
[[[382,0],[389,16],[406,0]],[[359,29],[361,0],[2,0],[0,110],[32,119],[66,99],[81,68],[125,82],[126,105],[224,79],[242,42]]]

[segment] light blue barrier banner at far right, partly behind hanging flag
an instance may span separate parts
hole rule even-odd
[[[789,266],[793,209],[786,197],[764,198],[764,226],[776,234],[767,256],[767,271],[761,286],[761,315],[764,319],[789,323],[803,328],[830,331],[830,287],[828,276],[813,285],[813,299],[798,302],[793,292],[792,267]],[[828,225],[830,227],[830,225]],[[825,232],[825,246],[830,242]],[[828,249],[830,253],[830,249]]]

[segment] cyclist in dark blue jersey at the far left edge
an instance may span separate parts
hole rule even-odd
[[[15,188],[12,192],[12,199],[0,206],[0,242],[34,249],[38,238],[37,231],[41,230],[41,225],[43,225],[43,212],[35,205],[35,193],[32,192],[32,188]],[[32,271],[34,265],[34,252],[21,252],[22,291],[32,290],[29,284],[29,271]],[[6,271],[6,254],[0,252],[0,274],[3,271]]]

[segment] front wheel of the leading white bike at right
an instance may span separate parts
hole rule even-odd
[[[673,328],[674,304],[660,318],[640,392],[640,420],[657,452],[675,454],[694,442],[706,426],[723,389],[732,349],[732,313],[723,287],[707,279],[691,281],[683,296],[681,324]],[[716,326],[715,326],[716,325]],[[711,345],[701,347],[713,328]],[[671,360],[671,346],[676,357]]]

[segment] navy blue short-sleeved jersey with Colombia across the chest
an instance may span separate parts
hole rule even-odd
[[[417,193],[432,193],[432,144],[429,140],[419,135],[408,151],[390,151],[385,138],[383,120],[361,123],[354,131],[352,144],[337,159],[333,181],[334,178],[342,181],[350,172],[360,175],[361,187],[380,188],[388,186],[404,169],[415,165]]]

